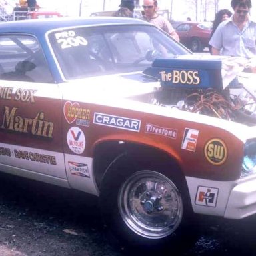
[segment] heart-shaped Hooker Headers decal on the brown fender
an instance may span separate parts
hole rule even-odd
[[[89,127],[90,125],[90,110],[83,109],[79,103],[65,102],[63,107],[64,117],[67,123],[71,124],[76,121],[76,125]]]

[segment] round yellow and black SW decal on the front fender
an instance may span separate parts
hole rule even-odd
[[[213,165],[222,165],[227,160],[227,147],[221,139],[211,139],[205,145],[205,157]]]

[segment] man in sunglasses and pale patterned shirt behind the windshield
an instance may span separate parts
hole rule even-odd
[[[141,19],[163,29],[163,31],[171,35],[175,40],[179,41],[179,35],[176,33],[175,29],[173,29],[171,23],[165,19],[165,17],[157,14],[157,0],[143,0],[142,7],[144,15]]]

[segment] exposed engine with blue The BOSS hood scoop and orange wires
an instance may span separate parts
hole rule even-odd
[[[193,56],[193,55],[192,55]],[[211,59],[208,59],[211,58]],[[230,62],[230,60],[228,60]],[[244,69],[223,57],[156,59],[143,73],[160,81],[152,104],[256,125],[256,93],[239,81]]]

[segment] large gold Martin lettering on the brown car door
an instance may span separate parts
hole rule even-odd
[[[32,135],[52,138],[53,122],[45,120],[45,113],[38,112],[33,118],[21,117],[18,115],[19,109],[13,107],[10,109],[5,106],[3,117],[0,117],[0,128],[17,133],[30,133]]]

